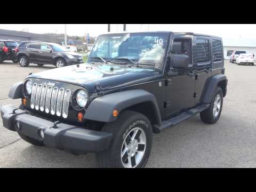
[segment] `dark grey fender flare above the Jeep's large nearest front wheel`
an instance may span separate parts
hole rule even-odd
[[[112,122],[117,119],[113,116],[113,110],[118,110],[121,113],[127,107],[148,101],[153,104],[157,124],[161,125],[161,114],[155,96],[140,89],[110,93],[95,98],[87,108],[84,118],[93,121]]]

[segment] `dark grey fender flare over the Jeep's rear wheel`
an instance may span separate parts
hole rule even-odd
[[[203,99],[202,101],[204,103],[210,103],[214,94],[215,89],[218,86],[219,82],[224,82],[225,83],[225,87],[223,87],[225,89],[225,91],[223,92],[223,97],[226,96],[227,93],[227,77],[223,74],[218,74],[218,75],[214,75],[212,77],[210,77],[206,84],[205,84],[205,91],[203,94]]]

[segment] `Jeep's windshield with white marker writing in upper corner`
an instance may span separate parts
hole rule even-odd
[[[107,61],[130,59],[138,63],[151,63],[162,68],[167,46],[167,34],[134,33],[100,35],[91,51],[89,61],[101,57]]]

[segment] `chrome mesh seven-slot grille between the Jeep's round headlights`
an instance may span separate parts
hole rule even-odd
[[[68,117],[68,107],[71,91],[69,89],[52,87],[34,83],[31,93],[31,109],[41,110],[52,115]]]

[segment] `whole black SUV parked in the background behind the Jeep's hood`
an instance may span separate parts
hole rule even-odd
[[[56,43],[21,42],[16,54],[22,67],[29,66],[29,63],[36,63],[39,66],[51,64],[56,67],[83,63],[81,54],[68,52]]]

